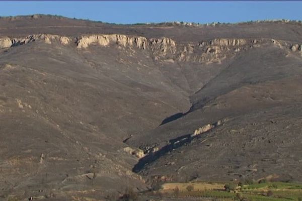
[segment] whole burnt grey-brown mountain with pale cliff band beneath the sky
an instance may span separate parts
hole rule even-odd
[[[302,24],[0,19],[0,198],[302,181]]]

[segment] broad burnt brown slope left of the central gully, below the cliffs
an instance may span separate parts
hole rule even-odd
[[[117,47],[80,51],[36,41],[0,58],[5,195],[143,189],[131,172],[137,159],[123,151],[122,141],[190,107],[145,52],[135,53],[138,64]]]

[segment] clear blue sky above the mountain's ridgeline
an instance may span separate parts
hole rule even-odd
[[[0,1],[0,16],[52,14],[109,23],[302,20],[299,1]]]

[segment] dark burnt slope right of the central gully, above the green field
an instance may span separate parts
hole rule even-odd
[[[208,181],[301,180],[301,75],[301,59],[279,48],[245,52],[191,96],[190,113],[128,141],[160,149],[133,170],[182,181],[196,175]],[[219,120],[212,130],[188,137]]]

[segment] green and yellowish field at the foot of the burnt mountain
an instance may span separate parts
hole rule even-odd
[[[211,188],[215,185],[215,189]],[[185,188],[184,188],[185,186]],[[187,186],[191,189],[187,190]],[[196,188],[198,186],[198,188]],[[203,189],[206,186],[207,189]],[[245,200],[245,201],[302,201],[302,183],[293,182],[264,182],[253,183],[238,186],[237,183],[232,183],[231,190],[217,186],[224,186],[222,183],[209,184],[206,182],[192,183],[167,183],[163,184],[163,188],[159,190],[162,196],[174,197],[211,197],[216,200]]]

